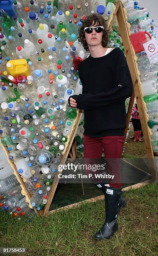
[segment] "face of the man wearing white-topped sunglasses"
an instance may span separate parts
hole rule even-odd
[[[93,22],[90,27],[94,28],[97,26],[99,26],[99,24],[98,23],[94,24],[94,22]],[[85,33],[86,42],[89,46],[97,46],[97,45],[101,44],[103,32],[97,33],[95,31],[95,29],[93,29],[92,33],[90,33],[90,34],[87,34],[86,31],[84,33]]]

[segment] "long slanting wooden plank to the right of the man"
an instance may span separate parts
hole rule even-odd
[[[140,77],[139,77],[140,72],[137,68],[138,64],[136,63],[135,58],[134,58],[135,52],[134,52],[133,46],[130,42],[129,31],[128,31],[126,19],[127,18],[125,16],[125,13],[123,10],[123,5],[122,5],[122,3],[120,3],[118,12],[117,12],[117,21],[119,24],[119,29],[120,29],[120,33],[121,33],[121,37],[122,37],[123,46],[125,48],[125,54],[126,54],[126,58],[127,58],[127,62],[128,62],[128,67],[130,69],[130,74],[131,74],[132,81],[133,81],[135,98],[137,101],[138,111],[140,114],[140,121],[141,121],[143,134],[144,134],[145,147],[147,150],[148,159],[150,161],[150,172],[151,172],[152,181],[153,181],[156,179],[156,168],[155,168],[155,162],[154,162],[154,156],[153,156],[153,149],[151,146],[150,131],[148,128],[148,123],[147,123],[148,120],[147,120],[147,115],[145,112],[145,106],[144,106],[145,102],[143,101],[143,95],[141,92],[141,82],[140,82]],[[132,105],[132,100],[131,100],[131,105]],[[130,108],[131,108],[131,105],[130,105]],[[130,113],[128,113],[128,115],[129,114]],[[129,120],[129,116],[128,116],[128,120]]]

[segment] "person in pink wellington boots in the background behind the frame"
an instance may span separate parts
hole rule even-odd
[[[132,111],[132,123],[133,123],[133,129],[134,129],[134,142],[137,141],[137,136],[138,136],[138,141],[141,142],[141,123],[140,123],[140,116],[138,112],[138,107],[137,103],[135,103],[133,111]]]

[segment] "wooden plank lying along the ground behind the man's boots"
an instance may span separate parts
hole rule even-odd
[[[122,189],[122,191],[127,191],[127,190],[130,190],[130,189],[138,189],[139,187],[143,187],[148,183],[149,183],[149,180],[146,180],[145,182],[140,182],[138,184],[134,184],[134,185],[129,186],[129,187],[124,187]],[[61,208],[58,208],[58,209],[55,209],[55,210],[51,210],[51,211],[49,211],[49,213],[54,213],[56,211],[58,212],[58,211],[61,211],[61,210],[69,210],[73,207],[80,207],[82,204],[87,203],[87,202],[96,202],[98,200],[103,200],[103,199],[104,199],[104,195],[100,195],[100,196],[93,197],[93,198],[90,198],[90,199],[87,199],[87,200],[83,200],[83,201],[80,201],[80,202],[77,202],[77,203],[74,203],[74,204],[71,204],[71,205],[66,205],[64,207],[61,207]]]

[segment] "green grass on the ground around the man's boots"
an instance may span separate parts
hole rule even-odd
[[[35,215],[30,223],[1,211],[0,247],[25,247],[27,256],[157,255],[157,190],[157,184],[148,184],[127,191],[128,206],[119,214],[119,231],[103,241],[93,239],[104,223],[103,200],[47,217]]]

